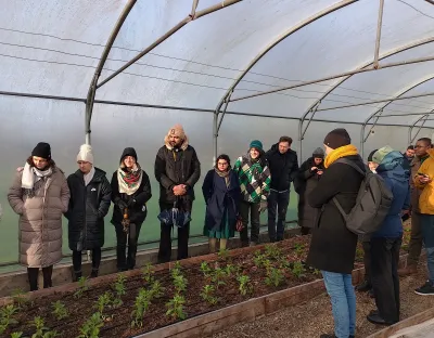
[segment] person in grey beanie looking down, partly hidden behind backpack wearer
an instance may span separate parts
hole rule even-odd
[[[324,170],[324,151],[316,148],[312,156],[308,158],[301,167],[298,172],[298,225],[302,227],[302,234],[307,235],[315,225],[318,210],[310,207],[307,203],[307,196],[317,186],[319,179]]]

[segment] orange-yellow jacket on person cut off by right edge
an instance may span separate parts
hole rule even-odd
[[[427,154],[430,155],[430,157],[423,161],[418,172],[425,173],[431,179],[434,179],[434,150],[429,150]],[[431,183],[422,184],[419,182],[418,173],[412,177],[412,180],[414,186],[422,191],[422,194],[419,198],[420,212],[424,214],[434,214],[434,181],[432,181]]]

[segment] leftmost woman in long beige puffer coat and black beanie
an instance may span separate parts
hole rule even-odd
[[[27,266],[30,291],[38,289],[39,269],[43,287],[51,287],[53,265],[62,260],[62,214],[69,203],[66,178],[51,159],[48,143],[38,143],[20,168],[8,193],[20,214],[20,263]]]

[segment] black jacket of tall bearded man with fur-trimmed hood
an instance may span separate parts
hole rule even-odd
[[[176,202],[174,186],[186,184],[189,200],[194,200],[194,184],[201,177],[201,164],[196,152],[191,145],[186,150],[168,150],[162,146],[155,158],[155,179],[159,183],[159,202],[171,204]]]

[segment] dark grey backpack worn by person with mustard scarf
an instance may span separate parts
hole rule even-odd
[[[361,170],[352,160],[340,158],[335,162],[350,166],[363,176],[356,205],[348,214],[342,208],[337,198],[333,197],[334,204],[345,220],[346,227],[356,235],[366,235],[380,230],[393,200],[393,194],[384,180],[370,170]]]

